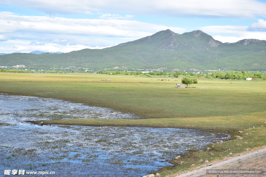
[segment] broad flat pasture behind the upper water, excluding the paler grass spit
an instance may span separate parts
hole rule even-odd
[[[167,80],[161,81],[161,78]],[[174,86],[181,80],[175,80],[167,77],[0,73],[0,92],[88,103],[150,118],[241,116],[264,111],[266,107],[266,85],[262,81],[199,80],[192,86],[209,89],[179,89]]]

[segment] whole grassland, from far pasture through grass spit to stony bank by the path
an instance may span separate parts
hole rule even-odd
[[[163,176],[196,167],[206,159],[211,162],[227,157],[230,152],[243,153],[249,151],[248,148],[266,144],[266,84],[263,81],[198,80],[198,84],[192,85],[208,89],[174,88],[177,83],[181,80],[167,77],[0,73],[0,92],[3,93],[59,98],[156,118],[69,119],[44,124],[197,128],[228,131],[232,136],[243,137],[214,144],[209,151],[189,151],[188,156],[171,161],[174,167],[162,169]],[[244,133],[238,133],[239,130]],[[200,159],[203,162],[199,162]]]

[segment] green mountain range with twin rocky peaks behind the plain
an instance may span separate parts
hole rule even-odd
[[[266,71],[265,49],[264,40],[222,43],[200,30],[178,34],[167,29],[105,49],[83,49],[61,54],[0,55],[0,66]]]

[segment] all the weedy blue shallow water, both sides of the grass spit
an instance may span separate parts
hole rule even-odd
[[[35,109],[39,111],[38,114],[45,111],[51,115],[54,110],[48,110],[48,107],[56,109],[60,114],[68,109],[75,110],[75,113],[69,111],[68,116],[71,118],[73,113],[73,118],[77,118],[82,117],[80,112],[86,109],[92,113],[89,116],[93,116],[94,107],[51,98],[22,96],[0,96],[0,104],[0,122],[3,124],[0,125],[0,144],[14,147],[0,146],[0,176],[5,176],[4,170],[21,169],[55,171],[56,176],[137,177],[171,166],[165,159],[184,155],[188,148],[203,150],[206,145],[212,144],[211,141],[230,138],[225,133],[195,129],[37,126],[25,122],[39,120],[39,116],[35,116]],[[115,114],[101,112],[101,115],[94,118],[124,116],[123,113],[112,111]],[[125,117],[135,118],[130,114]],[[47,115],[45,119],[54,118]]]

